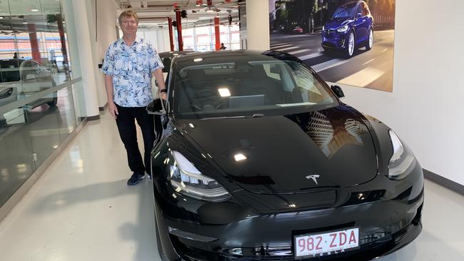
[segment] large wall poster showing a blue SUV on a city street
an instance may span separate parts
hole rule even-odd
[[[395,0],[269,0],[269,28],[325,81],[393,91]]]

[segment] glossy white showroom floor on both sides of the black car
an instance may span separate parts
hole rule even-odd
[[[2,260],[160,260],[148,180],[130,175],[109,113],[86,124],[0,223]],[[464,260],[464,198],[426,181],[424,229],[379,260]]]

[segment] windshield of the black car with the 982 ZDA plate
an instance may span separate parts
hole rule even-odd
[[[192,65],[174,77],[173,111],[178,118],[286,115],[331,107],[336,101],[298,61]]]

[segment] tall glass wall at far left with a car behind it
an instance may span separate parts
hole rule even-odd
[[[61,1],[0,1],[0,206],[76,129]]]

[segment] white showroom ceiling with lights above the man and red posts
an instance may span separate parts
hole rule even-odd
[[[183,26],[206,26],[213,24],[216,16],[220,24],[228,25],[231,14],[232,24],[238,23],[238,6],[243,0],[158,0],[158,1],[123,1],[116,0],[121,8],[137,11],[139,24],[143,27],[167,26],[167,18],[176,20],[175,10],[186,10],[187,18],[182,19]],[[197,6],[197,2],[199,6]],[[243,3],[242,3],[243,2]]]

